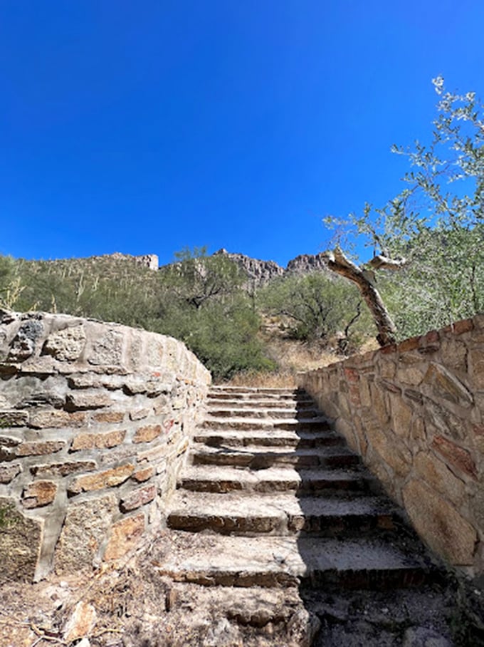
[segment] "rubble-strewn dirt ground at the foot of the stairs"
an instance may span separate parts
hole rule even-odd
[[[94,573],[0,584],[0,647],[477,647],[482,591],[234,589],[161,576],[169,533]]]

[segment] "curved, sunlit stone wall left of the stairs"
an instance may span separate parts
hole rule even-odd
[[[0,563],[41,579],[163,523],[211,376],[179,341],[0,311]]]

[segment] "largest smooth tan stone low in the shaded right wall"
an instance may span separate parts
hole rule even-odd
[[[455,566],[472,565],[477,534],[456,508],[419,480],[409,481],[403,494],[411,522],[431,549]]]

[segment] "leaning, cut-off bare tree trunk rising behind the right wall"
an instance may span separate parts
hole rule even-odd
[[[332,271],[341,274],[349,279],[349,281],[357,284],[377,326],[377,341],[379,345],[389,346],[389,344],[395,343],[395,324],[391,321],[382,297],[372,284],[371,279],[369,279],[368,273],[362,271],[357,265],[347,259],[339,247],[334,252],[328,254],[327,266]]]

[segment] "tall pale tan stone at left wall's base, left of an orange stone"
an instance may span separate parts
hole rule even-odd
[[[117,498],[112,494],[70,503],[56,547],[56,571],[92,568],[116,512]]]

